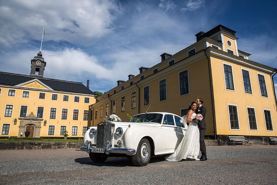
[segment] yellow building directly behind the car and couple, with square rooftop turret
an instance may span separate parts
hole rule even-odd
[[[277,136],[276,69],[248,60],[250,54],[238,49],[235,33],[222,25],[201,31],[196,43],[174,55],[164,53],[159,64],[118,80],[117,87],[90,105],[94,114],[89,125],[112,113],[128,121],[127,113],[133,116],[148,108],[183,116],[190,103],[202,97],[207,136],[219,144],[227,144],[228,135],[268,143],[268,136]]]

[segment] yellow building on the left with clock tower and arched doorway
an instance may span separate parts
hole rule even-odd
[[[31,73],[0,72],[0,137],[83,138],[94,93],[79,82],[43,77],[41,52],[31,60]],[[28,131],[28,132],[26,132]],[[26,134],[26,135],[25,135]]]

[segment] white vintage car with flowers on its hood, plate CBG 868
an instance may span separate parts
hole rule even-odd
[[[89,153],[94,162],[108,157],[130,157],[136,166],[145,166],[151,156],[174,153],[181,142],[187,124],[172,113],[142,113],[130,122],[103,121],[89,127],[80,150]]]

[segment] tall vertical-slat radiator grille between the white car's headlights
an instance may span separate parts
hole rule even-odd
[[[111,142],[112,130],[114,130],[114,125],[97,125],[96,148],[106,148],[106,141]]]

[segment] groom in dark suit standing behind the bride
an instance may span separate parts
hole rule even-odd
[[[205,131],[206,131],[206,122],[205,122],[205,115],[206,115],[206,108],[202,105],[204,103],[203,99],[198,97],[196,99],[197,108],[195,110],[196,114],[202,114],[203,120],[198,121],[198,128],[200,133],[200,151],[202,153],[200,160],[201,161],[207,161],[207,155],[206,155],[206,145],[204,142],[205,137]]]

